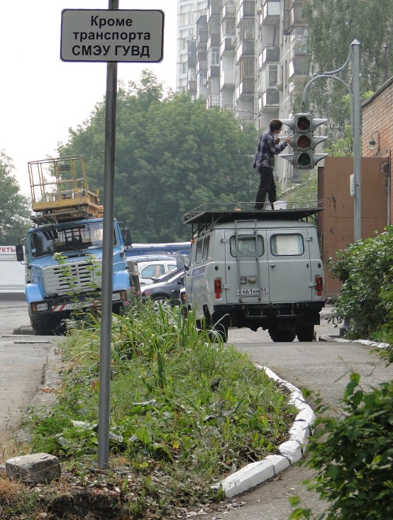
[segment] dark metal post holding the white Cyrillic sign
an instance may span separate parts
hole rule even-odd
[[[118,9],[118,0],[109,0]],[[104,153],[104,237],[102,250],[101,343],[99,361],[98,464],[108,468],[111,397],[111,328],[114,274],[114,172],[116,151],[117,62],[106,65],[106,112]]]

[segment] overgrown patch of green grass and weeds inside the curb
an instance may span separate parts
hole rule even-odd
[[[219,499],[214,483],[287,440],[297,411],[247,355],[211,343],[192,314],[157,312],[136,301],[113,320],[109,470],[102,472],[96,462],[99,340],[94,318],[72,331],[62,345],[66,369],[55,406],[28,418],[31,450],[62,461],[45,511],[54,514],[59,497],[69,511],[82,490],[98,499],[104,487],[116,490],[113,514],[173,518],[174,511]],[[94,511],[93,500],[82,502],[90,508],[84,515]],[[97,507],[103,510],[101,502]]]

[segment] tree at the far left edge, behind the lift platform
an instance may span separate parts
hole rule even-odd
[[[13,162],[0,150],[0,244],[13,245],[30,227],[30,201],[19,194]]]

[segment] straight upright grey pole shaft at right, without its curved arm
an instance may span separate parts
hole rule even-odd
[[[352,92],[353,92],[353,180],[355,197],[353,201],[353,235],[362,238],[362,192],[360,155],[360,42],[353,40],[352,46]]]

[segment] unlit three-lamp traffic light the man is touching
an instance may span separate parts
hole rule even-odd
[[[326,119],[313,118],[311,114],[295,114],[292,119],[282,119],[282,123],[293,131],[289,146],[293,153],[281,154],[281,157],[289,161],[297,170],[312,170],[317,162],[327,153],[315,153],[316,145],[322,143],[327,137],[314,135],[314,130],[327,121]]]

